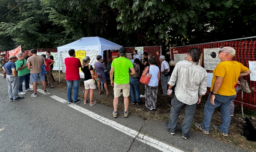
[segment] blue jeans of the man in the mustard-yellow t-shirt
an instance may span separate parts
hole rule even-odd
[[[225,134],[228,134],[228,127],[230,125],[230,119],[231,119],[230,102],[231,100],[234,100],[234,98],[236,98],[236,94],[233,96],[222,96],[220,94],[216,94],[214,99],[215,105],[211,104],[210,96],[211,94],[209,94],[206,104],[204,105],[204,120],[202,122],[202,126],[206,131],[209,131],[214,109],[220,106],[222,124],[219,127],[222,132],[224,132]]]

